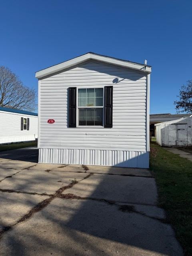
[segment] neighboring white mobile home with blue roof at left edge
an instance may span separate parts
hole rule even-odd
[[[0,107],[0,144],[36,140],[38,114]]]

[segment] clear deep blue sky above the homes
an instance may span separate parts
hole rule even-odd
[[[150,113],[175,113],[192,79],[191,0],[1,1],[0,65],[37,89],[35,72],[96,52],[152,66]]]

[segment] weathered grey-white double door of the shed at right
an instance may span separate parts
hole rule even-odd
[[[187,145],[187,124],[168,125],[168,146]]]

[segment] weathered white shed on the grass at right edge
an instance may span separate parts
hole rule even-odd
[[[192,118],[180,118],[155,124],[156,141],[160,146],[192,145]]]

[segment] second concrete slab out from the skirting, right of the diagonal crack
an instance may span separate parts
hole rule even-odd
[[[70,188],[68,193],[125,203],[156,205],[157,202],[154,178],[93,174]]]

